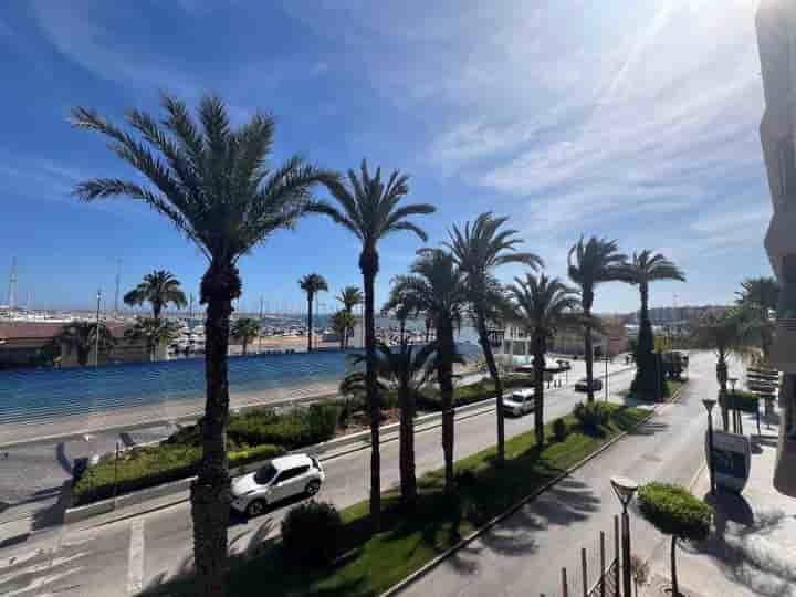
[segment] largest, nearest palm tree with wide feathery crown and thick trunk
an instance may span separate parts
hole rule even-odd
[[[291,229],[304,213],[316,184],[334,185],[337,175],[301,157],[277,168],[268,158],[274,121],[256,113],[232,127],[223,102],[201,100],[198,122],[186,105],[164,95],[165,117],[133,109],[132,130],[96,112],[73,109],[72,123],[107,137],[109,148],[150,185],[96,178],[77,185],[85,201],[125,196],[143,201],[167,218],[207,258],[201,303],[207,304],[205,376],[207,401],[202,460],[191,485],[197,593],[224,593],[230,478],[226,430],[229,420],[228,357],[232,301],[241,295],[238,261],[277,230]]]

